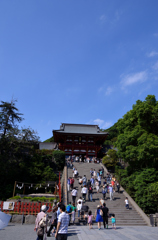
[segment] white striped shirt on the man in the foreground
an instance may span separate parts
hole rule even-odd
[[[67,213],[62,212],[59,215],[58,222],[60,222],[60,228],[58,233],[67,234],[69,220],[69,215]]]

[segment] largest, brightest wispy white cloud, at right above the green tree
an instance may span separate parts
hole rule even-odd
[[[146,80],[147,80],[147,72],[143,71],[143,72],[128,74],[128,75],[124,76],[121,81],[121,85],[122,85],[122,88],[125,88],[132,84],[144,82]]]

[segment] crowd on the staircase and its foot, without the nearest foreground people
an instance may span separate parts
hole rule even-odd
[[[108,228],[109,209],[106,207],[105,200],[107,200],[107,193],[109,193],[110,200],[113,200],[113,193],[117,191],[120,193],[120,184],[116,181],[115,177],[110,173],[105,174],[104,168],[101,167],[98,171],[90,169],[90,177],[87,179],[86,175],[79,176],[78,170],[75,166],[72,167],[73,177],[69,177],[67,180],[67,189],[71,191],[71,202],[67,206],[67,211],[72,216],[72,223],[75,222],[76,212],[78,214],[78,220],[84,218],[86,223],[89,224],[89,228],[92,228],[92,221],[98,223],[98,229],[101,228],[101,222],[103,222],[104,228]],[[79,189],[74,187],[74,181],[78,181]],[[87,201],[93,201],[93,194],[102,193],[100,199],[100,205],[97,206],[95,215],[92,215],[92,211],[86,205]],[[81,194],[78,200],[76,200],[78,194]],[[81,217],[81,218],[80,218]],[[116,229],[115,215],[111,215],[111,221],[113,228]]]

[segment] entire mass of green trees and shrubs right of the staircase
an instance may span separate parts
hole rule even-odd
[[[125,170],[116,167],[117,177],[146,213],[155,213],[158,200],[158,102],[155,96],[138,100],[116,124],[117,155],[128,163]]]

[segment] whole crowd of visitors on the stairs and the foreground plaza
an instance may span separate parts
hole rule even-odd
[[[113,193],[120,193],[120,184],[110,173],[105,173],[104,168],[99,170],[90,169],[89,178],[86,175],[81,176],[75,166],[72,166],[73,177],[67,179],[67,191],[70,192],[72,201],[67,206],[62,203],[55,204],[52,209],[52,217],[50,219],[49,230],[43,230],[48,237],[55,236],[57,240],[67,239],[67,229],[70,222],[75,223],[76,213],[78,222],[83,221],[92,228],[93,221],[97,222],[98,229],[101,229],[103,223],[104,228],[108,228],[108,220],[111,219],[112,228],[116,229],[115,214],[109,214],[106,207],[107,194],[112,201]],[[78,181],[79,187],[74,186],[74,182]],[[93,201],[93,194],[102,193],[100,204],[97,206],[95,214],[89,209],[87,201]],[[80,197],[78,197],[80,195]],[[77,199],[78,198],[78,199]],[[46,206],[42,206],[41,212],[37,215],[35,230],[39,230],[40,219],[46,216]],[[128,198],[125,199],[125,207],[129,210]],[[44,235],[43,235],[44,236]],[[43,236],[38,236],[37,240],[43,240]]]

